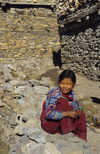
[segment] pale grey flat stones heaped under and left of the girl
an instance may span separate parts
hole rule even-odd
[[[52,88],[45,77],[15,78],[8,66],[3,65],[1,72],[0,131],[3,142],[10,145],[9,154],[91,154],[93,147],[72,133],[51,135],[42,130],[41,109]]]

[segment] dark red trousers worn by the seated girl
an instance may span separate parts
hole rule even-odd
[[[50,134],[66,134],[68,132],[73,132],[79,138],[87,141],[87,129],[86,129],[86,118],[84,112],[77,119],[70,117],[64,117],[60,120],[46,119],[45,116],[45,102],[43,104],[41,113],[41,126],[44,131]],[[56,102],[56,110],[58,111],[70,111],[72,110],[71,105],[68,104],[68,100],[65,98],[60,98]]]

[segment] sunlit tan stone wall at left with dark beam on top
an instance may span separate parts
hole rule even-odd
[[[0,58],[52,57],[52,52],[59,50],[55,6],[52,2],[41,3],[20,5],[19,1],[17,5],[6,6],[1,3]]]

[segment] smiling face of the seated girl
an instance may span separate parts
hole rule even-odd
[[[71,78],[65,78],[60,82],[59,87],[63,94],[67,94],[74,87],[74,83]]]

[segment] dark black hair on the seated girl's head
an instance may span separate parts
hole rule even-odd
[[[65,78],[71,78],[72,82],[75,84],[76,83],[76,75],[72,70],[64,70],[60,75],[59,75],[59,83],[65,79]]]

